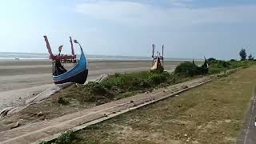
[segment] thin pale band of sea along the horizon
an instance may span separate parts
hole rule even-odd
[[[78,55],[79,58],[79,55]],[[121,55],[96,55],[87,54],[88,60],[151,60],[151,57],[143,56],[121,56]],[[21,52],[0,52],[0,60],[12,60],[12,59],[23,59],[23,60],[47,60],[49,54],[43,53],[21,53]],[[191,61],[193,58],[165,58],[166,61]],[[194,60],[202,60],[194,58]]]

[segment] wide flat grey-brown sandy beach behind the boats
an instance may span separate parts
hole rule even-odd
[[[165,62],[166,70],[174,70],[179,63]],[[89,61],[88,80],[100,74],[149,70],[150,66],[150,61]],[[0,61],[0,110],[8,106],[22,106],[33,94],[53,86],[51,71],[48,60]]]

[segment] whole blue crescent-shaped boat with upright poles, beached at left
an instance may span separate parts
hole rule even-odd
[[[45,40],[46,40],[46,46],[48,51],[50,51],[51,53],[51,49],[50,49],[50,44],[48,42],[48,39],[46,36],[44,36]],[[72,40],[70,38],[70,42],[71,42],[71,46],[73,47],[72,44]],[[66,70],[63,66],[62,66],[62,62],[60,59],[53,59],[53,81],[55,84],[62,84],[62,83],[66,83],[66,82],[75,82],[75,83],[80,83],[83,84],[86,82],[87,79],[87,75],[88,75],[88,68],[87,68],[87,60],[86,60],[86,56],[82,50],[82,46],[79,44],[78,41],[74,40],[74,43],[77,43],[80,46],[80,50],[81,50],[81,56],[80,59],[78,61],[78,63],[71,69],[71,70]],[[59,50],[61,51],[61,50]],[[51,57],[53,58],[53,57]]]

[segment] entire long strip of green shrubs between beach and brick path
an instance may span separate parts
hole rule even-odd
[[[207,63],[209,68],[206,69]],[[134,94],[158,89],[162,86],[170,86],[178,82],[184,82],[191,78],[206,74],[218,74],[222,71],[246,67],[254,61],[222,61],[209,58],[202,66],[196,66],[194,62],[183,62],[176,67],[174,73],[161,70],[134,72],[129,74],[113,74],[102,82],[89,82],[86,85],[74,85],[72,98],[79,102],[96,102],[100,105],[106,102],[126,98]],[[209,70],[208,70],[209,69]],[[68,104],[61,98],[58,103]]]

